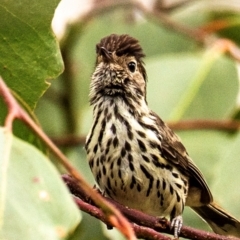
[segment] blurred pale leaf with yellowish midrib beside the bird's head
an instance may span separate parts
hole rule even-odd
[[[163,118],[225,118],[238,93],[235,62],[211,51],[165,55],[146,62],[149,105]],[[157,96],[157,97],[156,97]]]

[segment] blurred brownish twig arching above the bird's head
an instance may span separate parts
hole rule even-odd
[[[198,43],[205,43],[206,38],[209,36],[206,34],[203,29],[191,28],[184,24],[179,23],[179,21],[173,20],[168,14],[163,11],[158,11],[156,9],[148,9],[139,1],[136,0],[119,0],[119,1],[110,1],[105,0],[97,2],[93,7],[85,13],[84,15],[79,16],[78,19],[72,25],[69,25],[68,34],[61,41],[61,46],[63,48],[67,47],[72,49],[75,45],[75,42],[79,39],[79,31],[83,31],[84,28],[88,26],[88,23],[97,16],[101,14],[106,14],[118,8],[124,9],[135,9],[141,12],[148,20],[153,21],[154,23],[160,24],[161,26],[166,27],[167,29],[173,30],[184,34],[185,36],[194,39]],[[78,30],[78,31],[76,31]]]

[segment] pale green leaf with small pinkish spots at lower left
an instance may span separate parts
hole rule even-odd
[[[68,237],[80,214],[49,159],[5,128],[0,154],[0,239]]]

